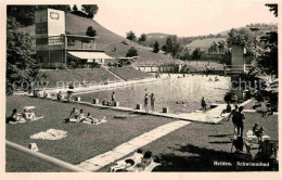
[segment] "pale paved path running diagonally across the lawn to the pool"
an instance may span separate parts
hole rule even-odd
[[[172,121],[166,125],[163,125],[161,127],[157,127],[149,132],[145,132],[126,143],[123,143],[112,151],[108,151],[106,153],[100,154],[93,158],[87,159],[79,165],[78,167],[89,170],[89,171],[97,171],[106,165],[114,163],[129,153],[132,153],[137,151],[138,149],[157,140],[158,138],[162,138],[166,136],[169,132],[172,132],[181,127],[184,127],[185,125],[191,124],[190,121],[183,121],[183,120],[177,120]]]

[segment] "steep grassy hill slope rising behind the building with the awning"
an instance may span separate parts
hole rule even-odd
[[[138,49],[140,59],[136,63],[144,62],[172,62],[172,59],[168,55],[161,53],[153,53],[151,48],[140,46],[136,42],[126,40],[127,44],[121,43],[125,40],[124,37],[114,34],[113,31],[104,28],[98,22],[91,18],[80,17],[70,13],[66,13],[66,30],[74,35],[86,35],[86,30],[89,26],[92,26],[97,30],[97,49],[105,50],[105,53],[113,57],[126,56],[128,49],[133,46]],[[29,33],[35,37],[35,26],[28,26],[20,29],[22,31]],[[116,49],[116,51],[114,51]],[[182,61],[177,61],[182,63]]]

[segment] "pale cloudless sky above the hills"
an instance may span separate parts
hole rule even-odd
[[[126,36],[132,30],[179,37],[218,34],[251,23],[278,23],[265,0],[93,0],[94,20]],[[271,2],[271,1],[268,1]],[[277,2],[277,1],[272,1]]]

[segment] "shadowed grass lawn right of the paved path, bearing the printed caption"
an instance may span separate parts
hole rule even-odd
[[[245,130],[251,130],[254,123],[262,126],[266,134],[278,140],[278,116],[272,115],[261,118],[256,113],[245,113]],[[163,166],[154,171],[236,171],[236,170],[269,170],[264,167],[236,167],[235,162],[247,162],[245,156],[230,153],[233,134],[232,121],[222,121],[219,125],[192,123],[172,131],[165,137],[142,147],[143,151],[152,151],[159,156]],[[234,151],[234,149],[233,149]],[[254,151],[255,152],[255,151]],[[245,159],[245,160],[244,160]],[[214,160],[231,162],[233,167],[214,166]],[[107,171],[111,165],[100,169]]]

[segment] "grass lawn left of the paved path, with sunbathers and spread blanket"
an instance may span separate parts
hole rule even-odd
[[[172,121],[168,118],[145,115],[138,115],[137,117],[127,119],[115,119],[114,115],[125,113],[22,95],[7,98],[7,116],[11,114],[13,108],[17,108],[18,112],[22,112],[23,106],[26,105],[35,105],[36,115],[44,115],[44,118],[26,124],[7,124],[7,140],[26,147],[30,142],[36,142],[41,153],[70,164],[78,164],[107,152],[134,137]],[[99,125],[98,127],[80,123],[65,124],[64,119],[68,117],[74,106],[84,108],[86,113],[90,112],[94,117],[101,118],[105,116],[107,123]],[[65,130],[67,131],[67,137],[57,141],[29,139],[30,136],[50,128]],[[26,162],[26,165],[23,166],[20,162],[24,160],[18,159],[21,156],[17,157],[14,154],[15,153],[8,153],[7,171],[41,170],[40,168],[33,169],[34,166],[29,166],[30,162]]]

